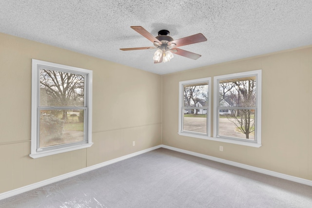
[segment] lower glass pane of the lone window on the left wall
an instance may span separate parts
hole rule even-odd
[[[84,110],[41,110],[40,148],[84,140]]]

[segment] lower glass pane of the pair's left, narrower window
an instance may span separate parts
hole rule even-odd
[[[196,109],[194,109],[196,113]],[[198,109],[197,114],[185,113],[183,131],[207,133],[207,109]]]

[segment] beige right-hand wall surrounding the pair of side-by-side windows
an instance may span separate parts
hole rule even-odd
[[[179,81],[258,69],[262,69],[262,147],[177,134]],[[312,180],[312,47],[165,75],[162,82],[164,145]]]

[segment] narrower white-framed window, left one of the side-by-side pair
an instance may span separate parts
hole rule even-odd
[[[210,136],[211,78],[179,82],[179,134],[197,138]]]

